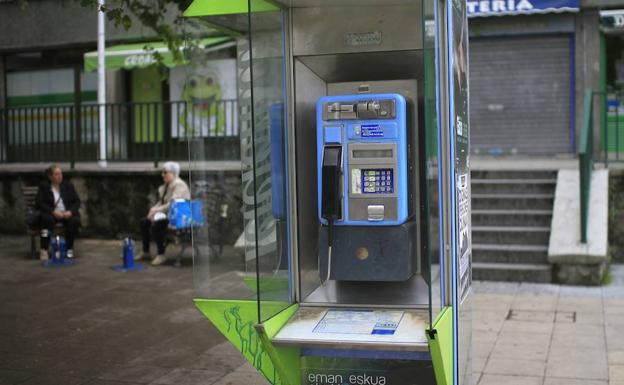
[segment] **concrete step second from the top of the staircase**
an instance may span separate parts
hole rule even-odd
[[[473,194],[553,194],[556,179],[472,179]]]

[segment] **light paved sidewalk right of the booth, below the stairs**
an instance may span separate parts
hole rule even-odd
[[[605,287],[476,282],[479,385],[624,385],[624,266]]]

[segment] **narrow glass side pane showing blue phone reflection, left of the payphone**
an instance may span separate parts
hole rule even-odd
[[[250,66],[253,115],[249,139],[253,142],[253,174],[250,177],[254,180],[255,204],[248,208],[255,212],[253,236],[257,247],[253,256],[257,261],[260,320],[265,321],[293,302],[289,241],[291,215],[287,192],[289,163],[286,158],[288,125],[285,119],[286,19],[279,7],[268,7],[264,0],[250,0],[249,8],[250,61],[241,58],[241,69]],[[241,50],[239,57],[242,53]],[[249,143],[249,139],[241,137],[241,143]],[[249,147],[247,151],[251,149]]]

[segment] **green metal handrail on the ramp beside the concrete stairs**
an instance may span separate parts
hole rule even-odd
[[[592,90],[585,90],[583,126],[581,127],[578,147],[581,198],[581,243],[587,243],[589,195],[591,191],[592,171],[594,169],[594,130],[592,128],[595,95],[596,94]]]

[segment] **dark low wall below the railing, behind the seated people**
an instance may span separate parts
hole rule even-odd
[[[150,205],[157,199],[157,187],[162,184],[158,172],[70,172],[64,176],[70,180],[82,200],[81,235],[97,238],[120,238],[138,236],[139,221]],[[26,205],[22,186],[37,186],[43,173],[0,173],[0,233],[25,234]],[[194,177],[211,195],[204,206],[214,213],[212,207],[227,204],[226,226],[220,234],[226,243],[233,244],[243,231],[241,213],[241,179],[235,172],[202,172]],[[209,223],[216,218],[207,218]]]

